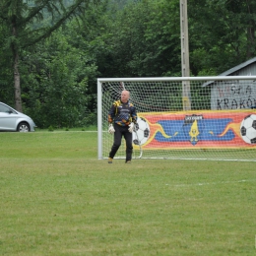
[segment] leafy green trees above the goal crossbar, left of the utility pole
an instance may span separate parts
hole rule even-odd
[[[98,64],[104,77],[180,74],[178,0],[130,1],[121,10],[109,10],[108,23],[108,54]]]

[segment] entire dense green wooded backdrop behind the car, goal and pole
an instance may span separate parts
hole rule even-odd
[[[181,76],[179,0],[75,1],[79,16],[61,22],[74,1],[18,2],[0,4],[0,100],[16,105],[19,67],[23,110],[41,128],[96,123],[98,77]],[[188,1],[191,76],[218,75],[254,57],[255,13],[253,1]],[[23,21],[20,36],[13,17]]]

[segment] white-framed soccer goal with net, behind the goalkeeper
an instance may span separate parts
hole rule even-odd
[[[256,76],[97,79],[99,160],[108,158],[107,113],[123,90],[138,113],[134,159],[256,160]]]

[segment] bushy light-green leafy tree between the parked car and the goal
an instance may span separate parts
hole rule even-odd
[[[86,51],[70,43],[74,38],[65,32],[53,32],[23,54],[24,108],[40,128],[96,124],[88,85],[96,77],[96,65]]]

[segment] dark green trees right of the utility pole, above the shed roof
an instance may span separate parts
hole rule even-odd
[[[188,1],[192,74],[218,75],[255,56],[255,1]]]

